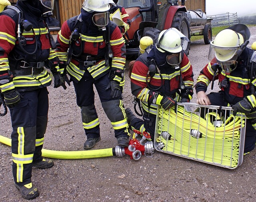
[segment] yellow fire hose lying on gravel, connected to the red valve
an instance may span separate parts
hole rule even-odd
[[[0,135],[0,142],[11,146],[12,140]],[[58,159],[84,159],[84,158],[101,158],[108,156],[116,156],[115,148],[100,150],[84,150],[84,151],[54,151],[42,149],[42,156]]]

